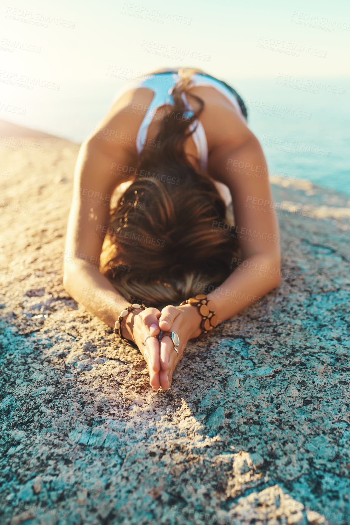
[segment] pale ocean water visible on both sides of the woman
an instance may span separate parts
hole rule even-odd
[[[350,195],[350,79],[279,74],[222,80],[245,100],[249,127],[263,146],[271,174],[306,178]],[[123,83],[107,77],[62,83],[54,95],[45,90],[23,125],[80,143]]]

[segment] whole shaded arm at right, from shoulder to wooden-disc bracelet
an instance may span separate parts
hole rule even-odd
[[[238,262],[238,267],[220,287],[207,294],[204,284],[198,293],[214,300],[219,319],[225,321],[279,285],[280,237],[267,163],[257,138],[246,128],[238,148],[224,144],[211,154],[210,162],[230,189],[235,213],[235,227],[215,226],[218,235],[238,238],[242,260],[232,259],[232,266]]]

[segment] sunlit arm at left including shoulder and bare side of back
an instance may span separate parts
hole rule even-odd
[[[74,175],[63,284],[77,302],[110,327],[129,303],[100,274],[100,254],[111,195],[116,186],[133,178],[128,173],[132,173],[137,158],[134,139],[123,143],[116,138],[136,137],[142,116],[132,116],[126,110],[133,101],[143,101],[149,91],[132,90],[113,104],[100,120],[98,130],[82,143]],[[115,169],[118,165],[130,167],[126,177]]]

